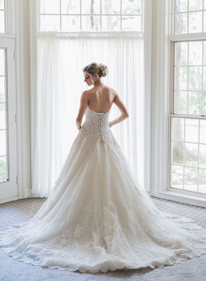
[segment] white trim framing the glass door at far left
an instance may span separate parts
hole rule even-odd
[[[7,198],[1,202],[25,198],[24,174],[24,126],[23,126],[23,61],[22,61],[22,0],[5,1],[6,32],[3,38],[14,38],[16,41],[16,95],[17,95],[17,173],[18,196]],[[26,196],[27,197],[27,196]]]

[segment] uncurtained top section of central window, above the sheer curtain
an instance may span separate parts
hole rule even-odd
[[[142,31],[141,0],[95,0],[94,27],[91,0],[41,0],[39,30]]]

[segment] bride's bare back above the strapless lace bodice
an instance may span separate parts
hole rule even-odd
[[[96,112],[107,112],[111,109],[116,97],[116,92],[110,87],[101,84],[87,92],[88,105],[87,107]]]

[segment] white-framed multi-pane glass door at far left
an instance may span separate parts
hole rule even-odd
[[[15,39],[0,38],[0,202],[17,199]]]

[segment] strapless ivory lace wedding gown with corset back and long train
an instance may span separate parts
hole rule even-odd
[[[206,230],[159,212],[133,177],[109,126],[109,111],[86,121],[54,191],[28,222],[1,238],[13,258],[81,272],[163,267],[206,253]]]

